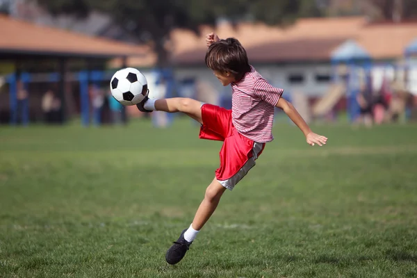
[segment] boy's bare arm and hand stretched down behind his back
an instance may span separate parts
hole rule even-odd
[[[301,129],[302,133],[304,133],[304,136],[306,136],[306,141],[309,145],[314,146],[314,144],[318,144],[321,147],[322,145],[326,144],[327,138],[325,136],[320,136],[316,133],[313,133],[309,125],[304,121],[293,104],[280,97],[276,107],[281,108],[294,122],[294,124],[298,126],[299,129]]]

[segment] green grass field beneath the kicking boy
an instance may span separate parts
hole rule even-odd
[[[417,277],[417,126],[295,126],[177,265],[221,142],[154,129],[0,127],[0,277]]]

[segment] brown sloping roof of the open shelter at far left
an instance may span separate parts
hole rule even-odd
[[[31,24],[0,15],[0,55],[85,56],[110,58],[143,56],[147,47]]]

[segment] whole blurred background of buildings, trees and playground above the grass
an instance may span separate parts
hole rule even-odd
[[[158,96],[231,107],[204,35],[242,42],[307,122],[417,120],[413,0],[0,0],[1,124],[126,124],[109,81],[136,67]],[[174,120],[152,113],[155,126]],[[280,117],[277,121],[288,121]]]

